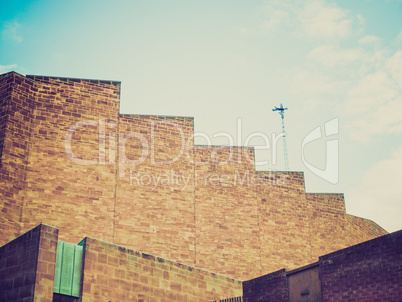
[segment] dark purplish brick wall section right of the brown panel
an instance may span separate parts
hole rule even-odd
[[[320,257],[324,301],[400,301],[402,230]]]

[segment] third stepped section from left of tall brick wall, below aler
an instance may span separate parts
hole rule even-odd
[[[194,158],[197,265],[240,279],[260,275],[258,208],[247,179],[254,150],[197,147]]]

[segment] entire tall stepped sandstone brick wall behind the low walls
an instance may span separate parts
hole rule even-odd
[[[252,148],[194,146],[192,118],[119,114],[119,82],[0,88],[0,245],[46,223],[248,280],[386,234],[302,172],[256,172]]]

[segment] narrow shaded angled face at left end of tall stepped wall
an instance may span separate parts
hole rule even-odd
[[[34,106],[32,81],[17,73],[0,76],[0,239],[21,234],[29,140]]]

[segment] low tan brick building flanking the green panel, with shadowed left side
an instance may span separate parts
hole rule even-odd
[[[239,297],[242,282],[86,237],[79,298],[54,294],[59,230],[39,225],[0,248],[0,301],[213,301]]]

